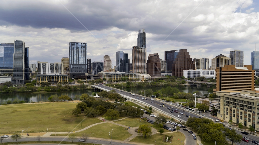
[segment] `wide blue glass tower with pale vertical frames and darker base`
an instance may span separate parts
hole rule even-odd
[[[69,42],[70,73],[87,73],[87,43]]]

